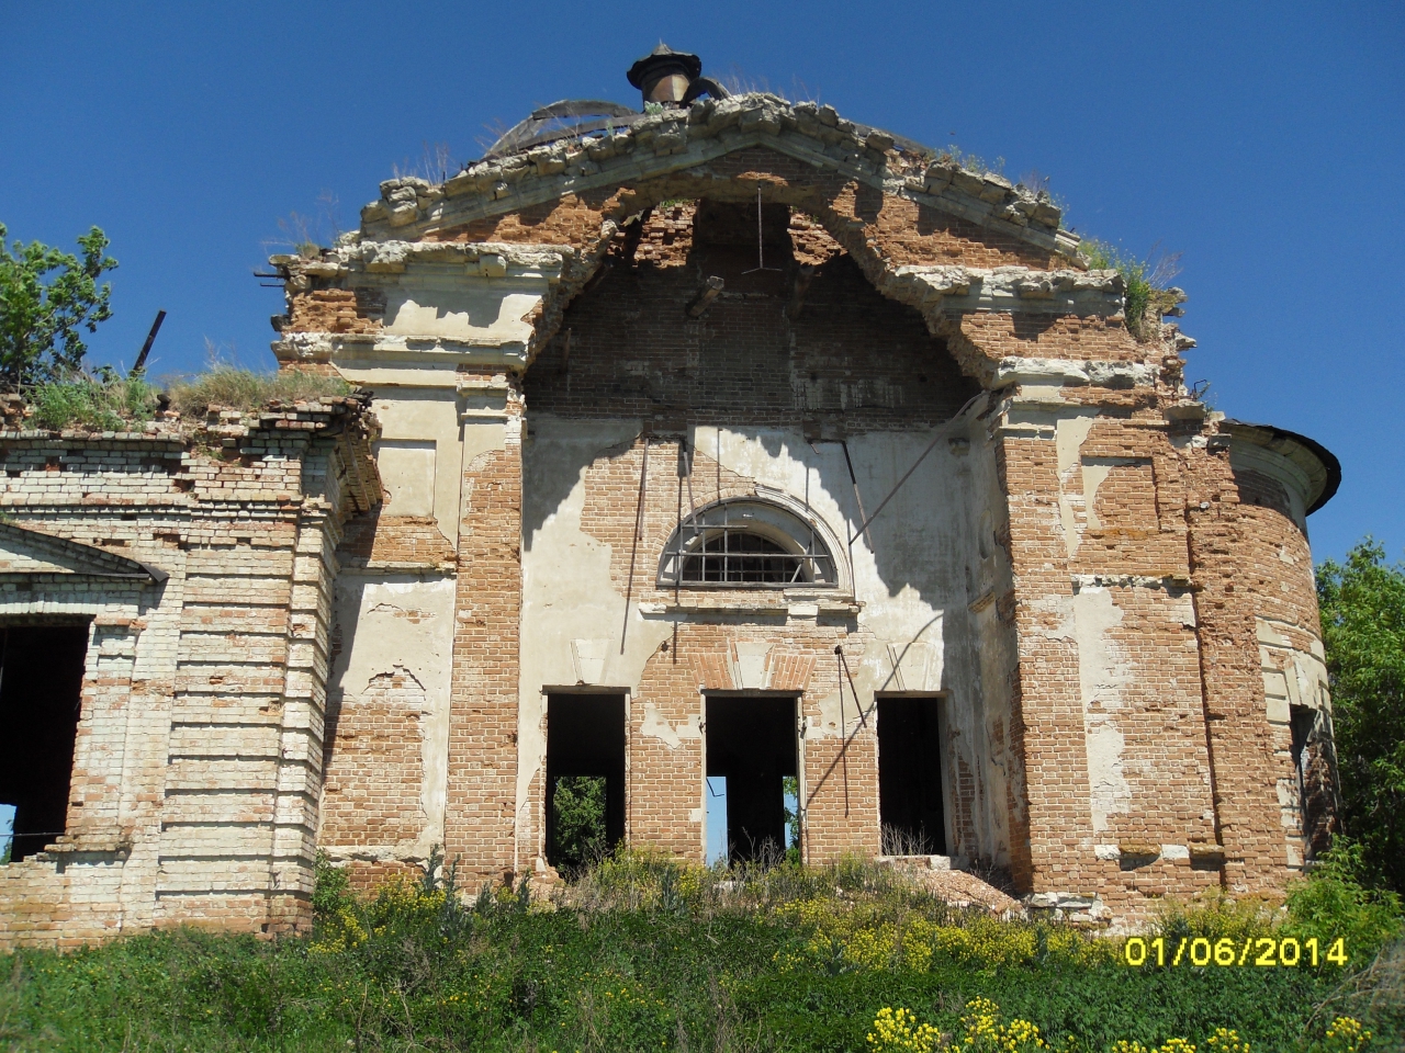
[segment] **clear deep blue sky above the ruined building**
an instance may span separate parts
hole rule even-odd
[[[3,6],[0,222],[112,239],[94,362],[207,341],[271,366],[280,219],[340,225],[426,143],[559,98],[636,104],[660,38],[736,74],[1005,171],[1051,178],[1080,233],[1182,253],[1190,379],[1232,417],[1338,453],[1315,555],[1405,553],[1405,6],[561,3]]]

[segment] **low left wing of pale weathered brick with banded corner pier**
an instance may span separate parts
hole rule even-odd
[[[350,407],[222,417],[198,444],[0,435],[17,526],[167,576],[91,578],[77,556],[0,597],[8,623],[91,625],[66,833],[6,868],[0,945],[309,924],[329,556],[347,511],[379,498]],[[200,452],[221,437],[228,459]]]

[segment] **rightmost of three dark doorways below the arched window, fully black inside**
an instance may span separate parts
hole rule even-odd
[[[878,699],[878,817],[884,855],[946,855],[937,699]]]

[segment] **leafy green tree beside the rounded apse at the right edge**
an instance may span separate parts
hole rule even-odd
[[[1318,567],[1345,837],[1360,878],[1405,892],[1405,564],[1367,536]],[[1340,838],[1339,838],[1340,841]],[[1333,847],[1336,849],[1336,847]]]

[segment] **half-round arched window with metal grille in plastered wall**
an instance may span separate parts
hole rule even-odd
[[[718,501],[686,518],[663,553],[666,587],[835,587],[835,559],[813,519],[770,501]]]

